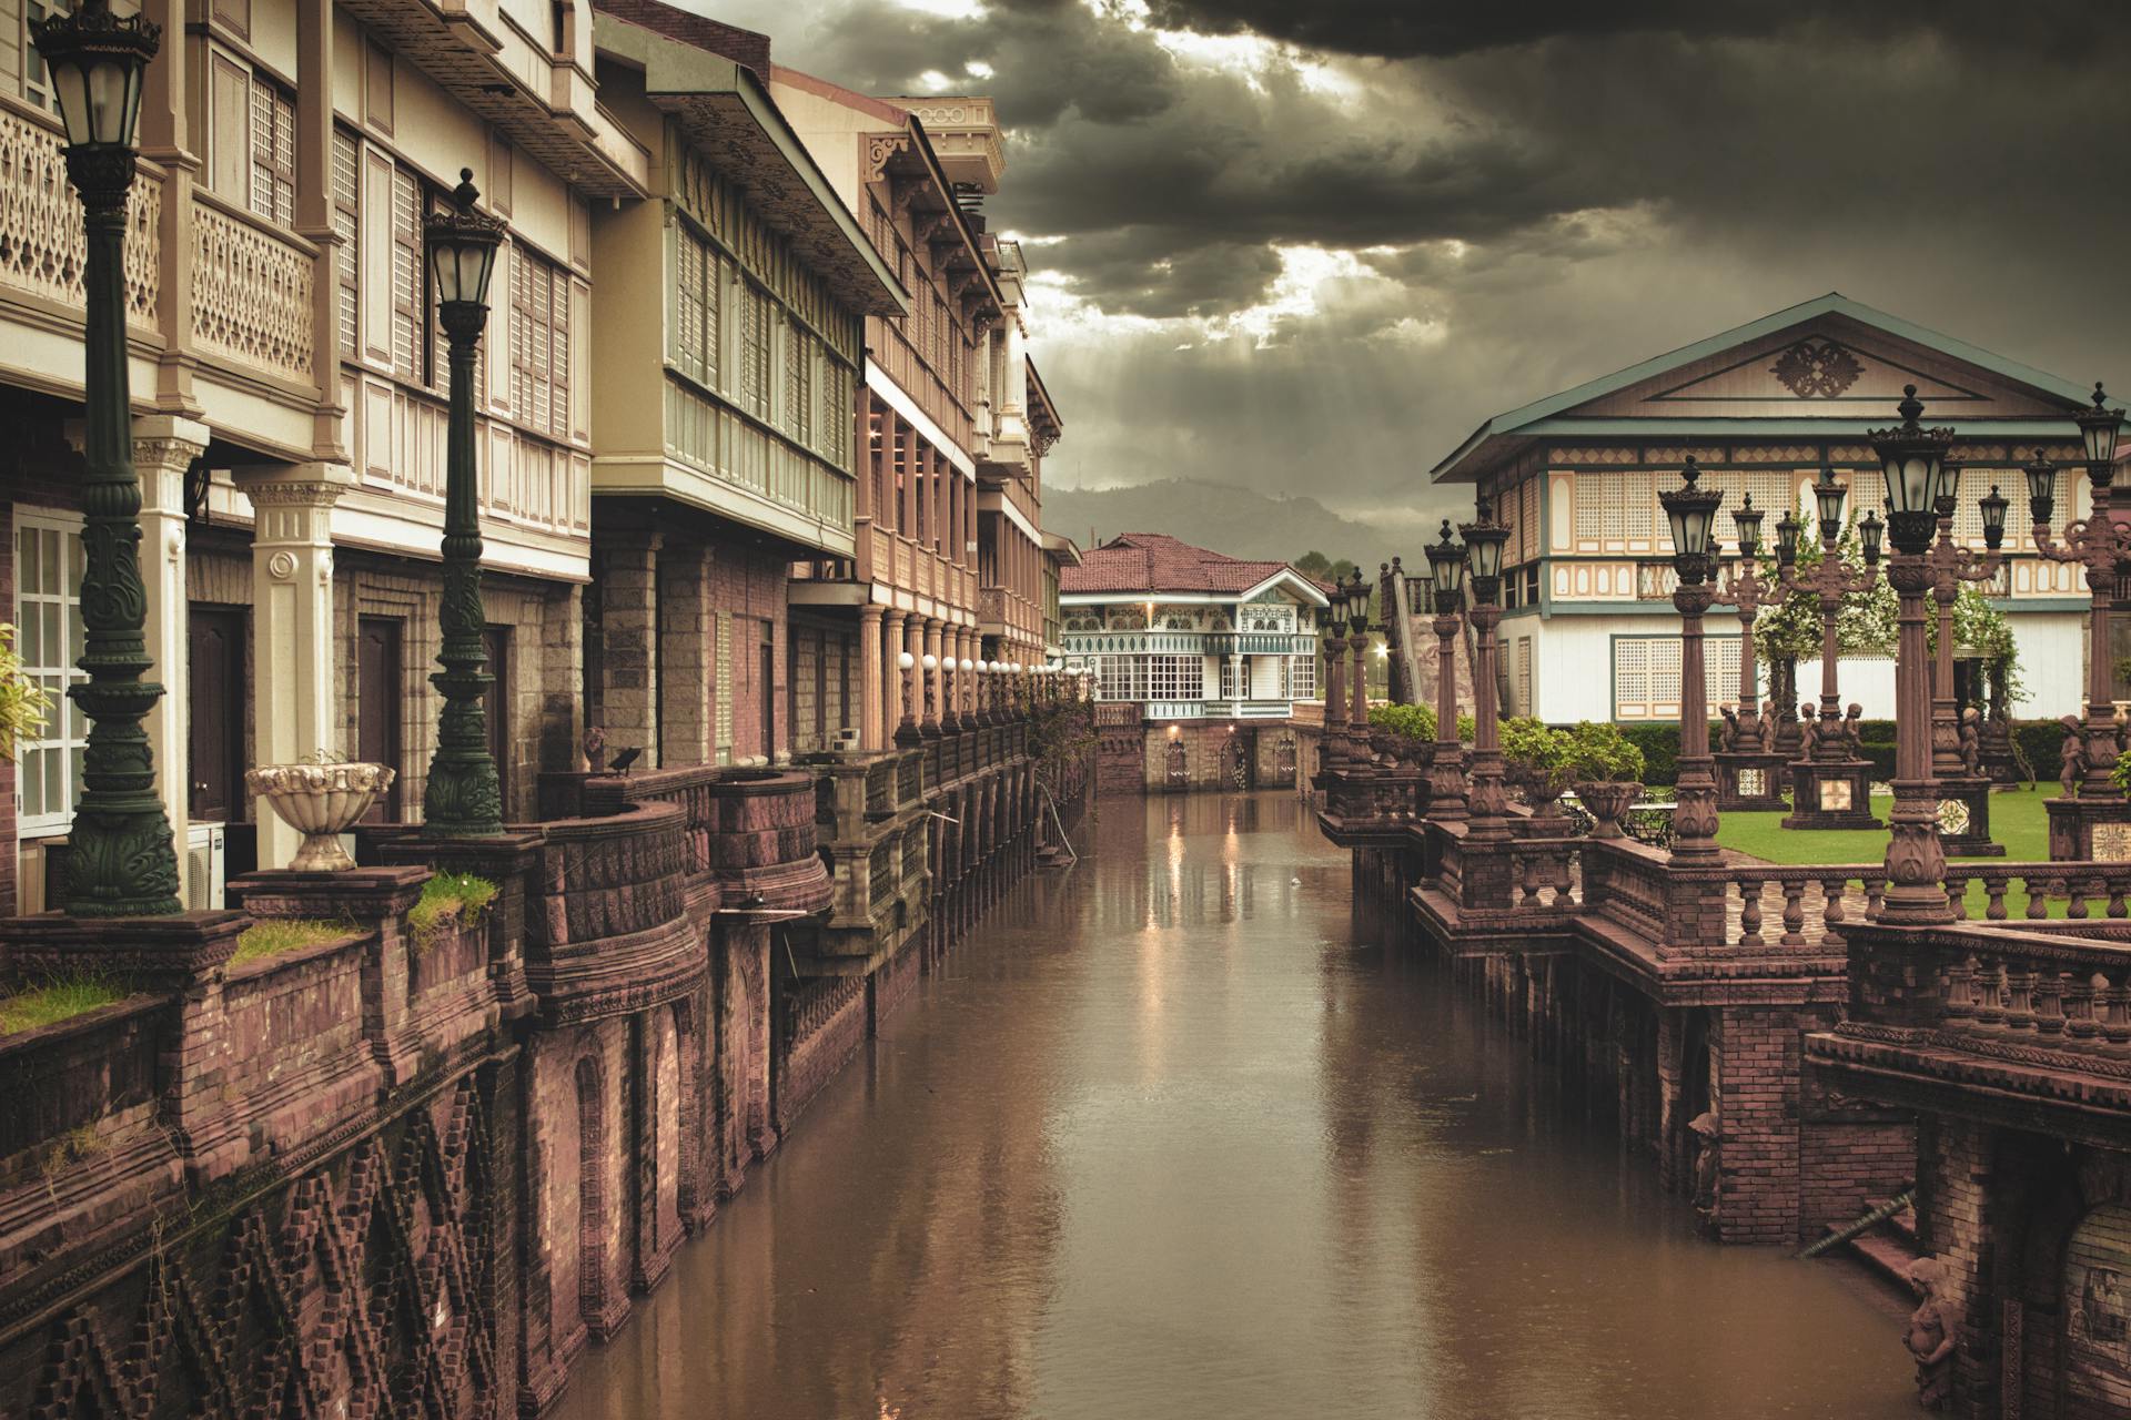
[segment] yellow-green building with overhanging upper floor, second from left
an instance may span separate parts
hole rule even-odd
[[[652,200],[592,219],[586,720],[646,769],[829,749],[859,628],[788,622],[788,568],[857,554],[863,321],[910,294],[769,100],[765,36],[614,0],[595,45]]]

